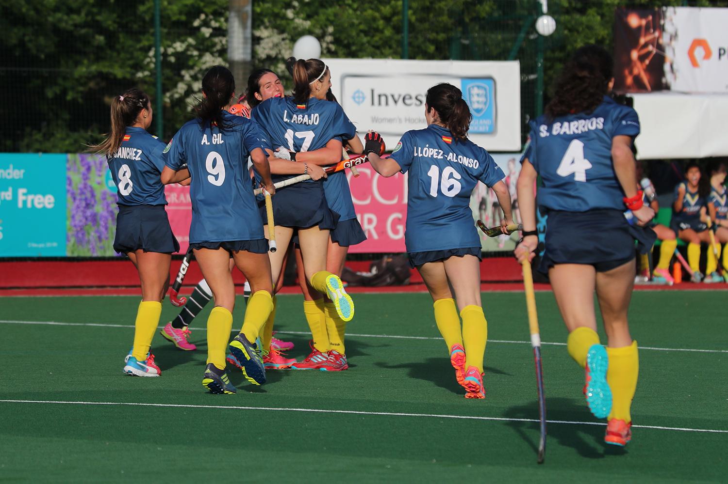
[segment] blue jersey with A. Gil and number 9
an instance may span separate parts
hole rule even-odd
[[[188,121],[165,148],[167,166],[178,170],[187,164],[192,177],[190,243],[264,237],[247,165],[252,150],[269,145],[248,118],[227,112],[223,118],[229,125],[225,130]]]

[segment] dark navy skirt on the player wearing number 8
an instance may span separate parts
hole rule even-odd
[[[160,254],[179,251],[164,205],[119,205],[114,250],[127,254],[138,249]]]

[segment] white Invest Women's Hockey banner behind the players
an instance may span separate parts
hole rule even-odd
[[[359,132],[374,129],[390,148],[427,126],[427,89],[448,82],[470,106],[472,142],[491,151],[521,149],[518,61],[325,59],[331,90]]]

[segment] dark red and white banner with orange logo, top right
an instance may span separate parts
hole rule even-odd
[[[617,9],[614,89],[728,92],[728,9]]]

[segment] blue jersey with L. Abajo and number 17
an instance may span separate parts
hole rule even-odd
[[[351,140],[357,130],[337,102],[310,98],[297,105],[292,97],[272,97],[253,108],[250,118],[268,135],[273,149],[303,152],[324,148],[339,137]],[[274,175],[274,182],[296,175]]]

